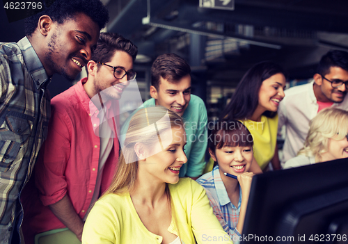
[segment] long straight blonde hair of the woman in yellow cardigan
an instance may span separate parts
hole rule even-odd
[[[161,120],[166,114],[168,114],[170,123],[168,123],[168,120]],[[151,124],[156,124],[156,126],[150,127],[149,125]],[[136,156],[134,150],[134,145],[136,143],[155,145],[155,143],[160,140],[159,134],[161,134],[162,131],[171,129],[172,127],[184,128],[183,125],[184,122],[182,117],[163,106],[143,108],[137,111],[129,122],[124,146],[120,153],[120,158],[118,159],[118,169],[113,177],[111,185],[104,195],[134,190],[139,169],[139,158]]]

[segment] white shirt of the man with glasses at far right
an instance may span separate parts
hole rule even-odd
[[[313,90],[314,81],[285,90],[285,97],[278,108],[278,131],[285,125],[286,137],[282,164],[294,158],[303,147],[309,130],[309,122],[318,113],[319,106]],[[336,108],[348,110],[348,96]]]

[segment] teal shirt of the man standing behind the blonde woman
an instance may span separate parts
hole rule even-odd
[[[155,99],[153,98],[145,101],[140,108],[151,106],[155,106]],[[132,115],[122,125],[122,136],[125,136],[125,133],[127,133]],[[182,118],[184,119],[184,129],[187,138],[187,144],[184,149],[187,163],[184,163],[180,168],[179,177],[200,177],[205,168],[205,150],[207,149],[207,108],[205,108],[203,100],[196,95],[191,95],[189,105],[184,111]],[[124,138],[121,140],[121,143],[123,143]]]

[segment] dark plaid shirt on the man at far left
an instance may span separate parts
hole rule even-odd
[[[50,115],[51,79],[25,37],[0,43],[0,243],[22,224],[22,188],[29,180]],[[17,225],[16,225],[17,224]]]

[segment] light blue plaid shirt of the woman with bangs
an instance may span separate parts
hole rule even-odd
[[[235,243],[235,240],[238,240],[238,236],[241,236],[236,227],[242,203],[242,189],[239,186],[239,202],[238,208],[236,208],[230,201],[230,197],[228,197],[220,176],[219,165],[216,165],[211,172],[203,174],[202,177],[197,179],[197,182],[205,188],[216,218],[218,218],[223,229],[230,234],[233,243]]]

